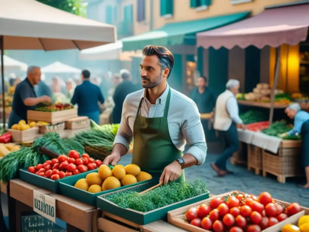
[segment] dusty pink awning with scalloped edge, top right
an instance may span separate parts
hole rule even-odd
[[[305,41],[309,26],[309,3],[269,8],[234,24],[197,33],[197,46],[231,49],[254,45],[277,47]]]

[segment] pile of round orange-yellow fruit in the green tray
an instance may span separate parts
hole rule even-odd
[[[117,164],[114,167],[100,165],[98,172],[87,174],[86,178],[79,179],[74,187],[97,193],[150,179],[152,176],[141,171],[140,167],[135,164],[126,166]]]

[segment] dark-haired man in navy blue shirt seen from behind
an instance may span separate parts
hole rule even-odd
[[[103,104],[104,97],[100,88],[90,82],[90,72],[82,71],[83,83],[75,88],[74,95],[71,99],[73,105],[78,105],[78,116],[87,116],[99,124],[99,104]]]

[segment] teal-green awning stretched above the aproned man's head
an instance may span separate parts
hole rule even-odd
[[[140,50],[149,44],[161,46],[187,44],[186,40],[191,41],[188,45],[195,45],[195,34],[197,32],[208,31],[235,23],[247,18],[249,14],[250,12],[243,12],[233,15],[222,15],[207,19],[165,24],[162,28],[122,39],[122,50]],[[192,40],[194,40],[194,44],[192,44]]]

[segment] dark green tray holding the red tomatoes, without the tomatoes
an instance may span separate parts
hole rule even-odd
[[[74,175],[74,176],[67,176],[67,177],[64,177],[62,179],[63,180],[69,179],[69,178],[72,178],[72,177],[81,178],[81,177],[77,177],[77,176],[80,176],[80,175],[83,175],[83,174],[87,175],[88,173],[91,173],[91,172],[94,172],[94,171],[96,171],[96,170],[87,171],[85,173],[77,174],[77,175]],[[47,189],[49,191],[53,191],[55,193],[61,193],[61,190],[60,190],[60,187],[59,187],[59,181],[60,180],[51,180],[51,179],[33,174],[31,172],[28,172],[28,169],[19,169],[19,178],[21,180],[23,180],[24,182],[33,184],[35,186]]]

